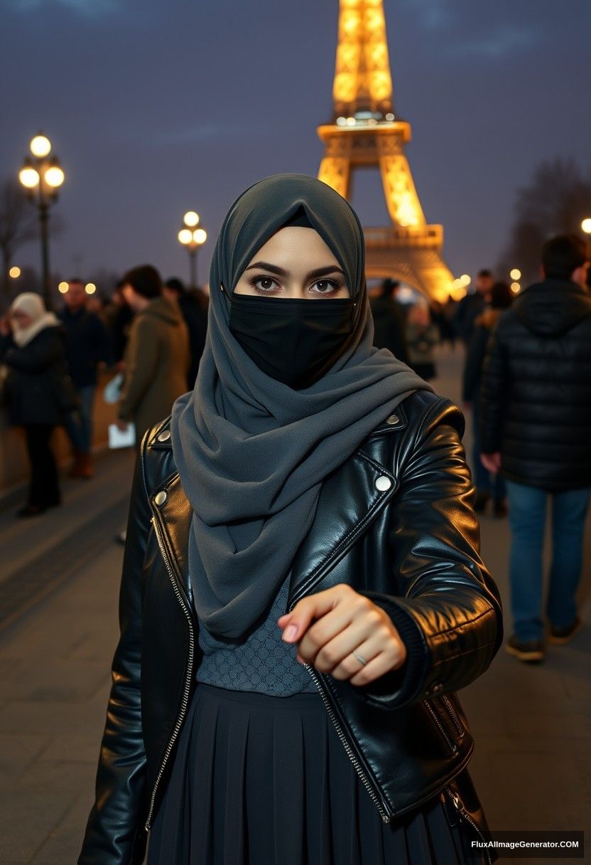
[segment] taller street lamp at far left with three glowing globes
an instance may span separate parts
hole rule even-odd
[[[58,189],[66,179],[57,157],[50,156],[51,142],[41,132],[29,145],[27,156],[19,172],[19,180],[27,190],[29,201],[36,202],[41,227],[41,272],[43,299],[51,309],[51,277],[49,273],[49,207],[57,200]]]

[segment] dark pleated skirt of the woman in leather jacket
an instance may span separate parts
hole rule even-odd
[[[464,865],[439,796],[391,823],[319,694],[198,682],[149,836],[148,865]]]

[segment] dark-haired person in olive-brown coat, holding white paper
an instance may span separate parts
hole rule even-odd
[[[143,433],[166,417],[187,390],[189,336],[178,304],[162,297],[162,279],[151,265],[134,267],[124,276],[124,298],[136,313],[124,355],[124,385],[118,407],[119,426],[136,425]]]

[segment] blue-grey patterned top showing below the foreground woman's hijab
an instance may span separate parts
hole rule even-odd
[[[277,619],[287,606],[289,573],[277,593],[268,617],[242,642],[219,639],[199,622],[199,645],[203,652],[195,671],[198,682],[234,691],[289,696],[318,693],[312,676],[296,660],[295,644],[284,643]]]

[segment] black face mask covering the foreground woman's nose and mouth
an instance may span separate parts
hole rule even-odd
[[[232,295],[230,330],[246,354],[277,381],[308,388],[339,359],[353,332],[351,298],[293,300]]]

